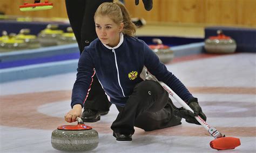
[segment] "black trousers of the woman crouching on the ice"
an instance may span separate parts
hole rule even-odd
[[[152,131],[181,124],[173,115],[176,107],[158,82],[145,80],[134,87],[125,107],[117,106],[119,114],[111,129],[121,134],[134,134],[134,126]]]

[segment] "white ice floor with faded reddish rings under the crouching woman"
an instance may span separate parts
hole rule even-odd
[[[199,99],[207,123],[240,138],[240,147],[213,150],[213,137],[185,120],[151,132],[136,128],[132,142],[120,143],[110,129],[118,112],[112,105],[100,121],[86,123],[99,133],[99,145],[90,152],[256,152],[255,65],[255,53],[194,55],[166,65]],[[60,152],[51,146],[51,132],[69,124],[64,114],[75,78],[76,73],[67,73],[0,84],[0,152]]]

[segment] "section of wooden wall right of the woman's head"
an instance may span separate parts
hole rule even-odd
[[[256,0],[154,0],[150,12],[126,3],[131,15],[151,22],[256,26]]]

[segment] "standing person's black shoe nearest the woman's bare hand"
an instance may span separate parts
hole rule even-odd
[[[98,110],[85,108],[81,119],[84,122],[96,122],[100,120],[100,113]]]

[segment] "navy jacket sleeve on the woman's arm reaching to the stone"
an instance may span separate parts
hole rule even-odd
[[[95,71],[92,58],[89,52],[84,50],[78,61],[77,78],[72,89],[71,108],[76,104],[84,106],[93,81],[93,75],[95,75]]]

